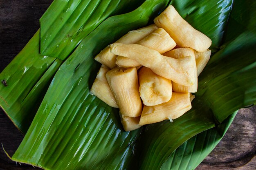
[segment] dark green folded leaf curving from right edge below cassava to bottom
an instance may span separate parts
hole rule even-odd
[[[209,62],[200,76],[200,90],[189,112],[172,124],[163,122],[147,127],[141,137],[142,170],[161,168],[180,144],[209,128],[210,122],[214,126],[239,108],[256,103],[255,35],[242,33],[212,56],[213,62]],[[245,46],[237,48],[241,43]],[[152,137],[152,133],[157,135]]]

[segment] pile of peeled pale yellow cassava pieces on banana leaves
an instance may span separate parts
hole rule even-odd
[[[172,121],[191,109],[191,93],[197,91],[197,77],[211,55],[211,40],[173,6],[154,22],[128,32],[95,57],[103,65],[91,93],[120,108],[126,131]]]

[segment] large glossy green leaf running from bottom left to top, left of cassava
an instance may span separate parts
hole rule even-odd
[[[131,13],[108,18],[81,42],[58,69],[13,160],[61,170],[128,167],[140,130],[124,132],[118,110],[90,95],[100,66],[94,56],[146,25],[167,3],[147,0]]]

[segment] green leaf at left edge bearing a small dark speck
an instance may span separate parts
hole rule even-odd
[[[40,31],[4,68],[0,80],[0,107],[13,124],[26,133],[40,106],[43,96],[62,61],[39,54]]]

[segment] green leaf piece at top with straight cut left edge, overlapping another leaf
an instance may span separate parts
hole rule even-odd
[[[65,60],[103,20],[143,0],[54,0],[40,18],[40,53]]]

